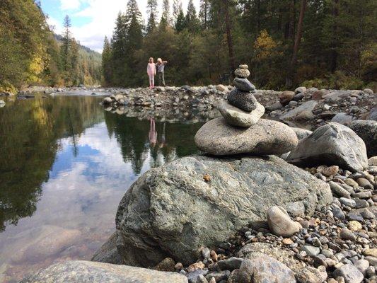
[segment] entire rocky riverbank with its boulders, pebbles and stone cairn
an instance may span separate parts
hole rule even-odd
[[[105,97],[123,115],[218,108],[221,117],[195,136],[206,154],[153,168],[127,190],[95,262],[23,282],[377,282],[376,94],[257,91],[247,66],[236,75],[236,88]]]

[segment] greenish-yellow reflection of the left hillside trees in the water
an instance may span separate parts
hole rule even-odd
[[[49,178],[57,139],[79,137],[103,119],[93,97],[35,98],[0,110],[0,231],[31,216]]]

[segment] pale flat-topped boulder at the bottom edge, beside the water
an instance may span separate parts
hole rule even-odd
[[[184,275],[175,272],[147,270],[127,265],[102,262],[67,261],[51,265],[21,283],[187,283]]]

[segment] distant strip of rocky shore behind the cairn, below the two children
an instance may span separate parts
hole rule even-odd
[[[119,114],[128,108],[148,108],[152,113],[161,109],[201,112],[213,110],[219,102],[226,101],[230,91],[230,86],[222,85],[117,90],[103,103],[106,110]],[[330,121],[347,125],[353,120],[377,120],[377,95],[370,89],[337,91],[301,87],[296,91],[255,90],[253,96],[265,106],[265,117],[309,129]]]

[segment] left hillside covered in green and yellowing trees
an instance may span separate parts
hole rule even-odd
[[[81,48],[69,29],[60,44],[35,1],[2,0],[0,18],[0,91],[100,83],[98,54]]]

